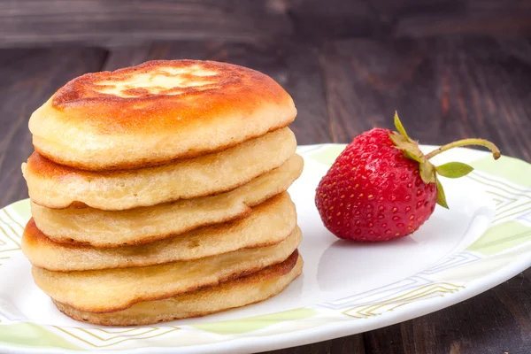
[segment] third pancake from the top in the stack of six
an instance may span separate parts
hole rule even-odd
[[[31,211],[42,233],[57,242],[96,247],[152,242],[196,227],[249,216],[250,207],[288,189],[302,173],[303,164],[303,158],[294,155],[279,168],[216,196],[119,212],[73,207],[50,209],[34,203]]]

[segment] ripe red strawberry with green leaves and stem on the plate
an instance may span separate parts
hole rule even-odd
[[[451,162],[435,167],[428,159],[456,146],[482,145],[500,157],[496,146],[481,139],[451,142],[426,156],[405,133],[395,113],[397,132],[373,128],[342,151],[319,182],[315,204],[325,227],[355,241],[388,241],[410,235],[446,200],[437,173],[458,178],[469,165]]]

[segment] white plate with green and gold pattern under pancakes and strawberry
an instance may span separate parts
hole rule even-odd
[[[418,232],[393,242],[336,239],[313,197],[343,145],[300,147],[305,167],[289,189],[304,241],[304,273],[261,304],[146,327],[96,327],[58,312],[35,287],[19,249],[27,200],[0,210],[0,352],[238,353],[353,335],[412,319],[490,289],[531,266],[531,165],[494,162],[476,150],[434,161],[475,171],[444,180],[450,211],[436,208]],[[429,147],[424,147],[430,150]]]

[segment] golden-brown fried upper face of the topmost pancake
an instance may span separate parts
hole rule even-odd
[[[176,69],[178,73],[171,73],[167,70],[168,68]],[[183,69],[187,72],[179,73]],[[201,71],[210,71],[210,73],[204,75]],[[182,86],[128,89],[127,86],[135,85],[127,82],[135,80],[135,75],[142,73],[151,77],[155,74],[168,78],[178,76]],[[119,89],[120,83],[124,85],[121,89]],[[195,83],[197,86],[190,86]],[[113,88],[118,88],[123,96],[106,92],[106,89]],[[253,90],[253,88],[257,89]],[[179,124],[186,124],[188,120],[208,119],[213,115],[205,114],[207,112],[226,111],[227,108],[233,108],[230,104],[234,102],[227,101],[226,92],[234,90],[246,92],[246,97],[251,94],[259,95],[279,104],[286,98],[273,79],[243,66],[214,61],[153,60],[113,72],[81,75],[58,89],[51,104],[52,107],[61,111],[96,106],[99,114],[91,111],[92,114],[89,116],[81,116],[77,119],[96,126],[106,134],[119,133],[124,130],[127,132],[143,129],[158,131],[158,129],[173,129],[177,120]],[[187,97],[197,95],[207,95],[211,101],[219,99],[219,104],[207,107],[209,111],[202,109],[202,115],[198,116],[196,107],[190,107],[186,103]],[[235,103],[242,104],[242,97],[234,99],[237,99]],[[248,104],[247,107],[251,105]],[[158,121],[154,126],[150,120],[155,116]],[[109,121],[108,117],[113,117],[112,121]]]

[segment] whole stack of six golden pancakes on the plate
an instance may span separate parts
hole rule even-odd
[[[73,319],[144,325],[253,304],[301,272],[296,108],[263,73],[152,61],[34,112],[22,247]]]

